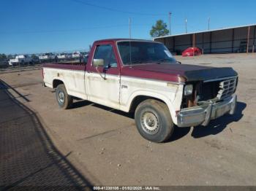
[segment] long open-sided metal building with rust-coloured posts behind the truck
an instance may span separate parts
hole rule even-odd
[[[222,28],[189,34],[160,36],[154,41],[162,42],[180,55],[187,47],[199,47],[204,54],[255,52],[256,25]]]

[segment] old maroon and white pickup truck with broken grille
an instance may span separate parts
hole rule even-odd
[[[75,97],[135,112],[139,133],[154,142],[169,139],[174,125],[206,126],[236,109],[236,71],[181,64],[159,42],[99,40],[84,63],[44,64],[43,77],[61,108]]]

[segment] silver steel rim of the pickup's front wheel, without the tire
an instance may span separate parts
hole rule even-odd
[[[158,117],[153,112],[144,112],[141,115],[140,123],[143,130],[151,135],[156,134],[160,127]]]

